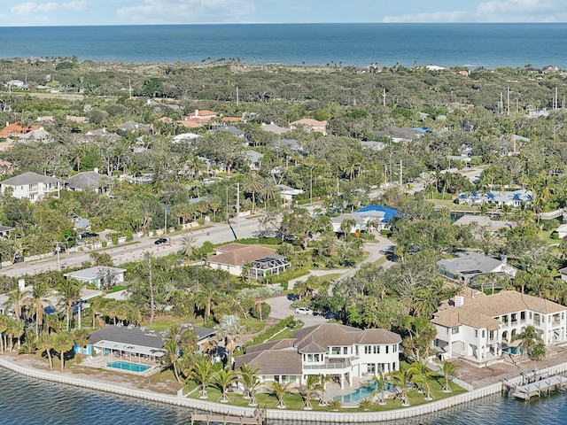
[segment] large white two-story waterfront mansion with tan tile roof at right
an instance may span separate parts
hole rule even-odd
[[[502,290],[486,296],[463,290],[439,307],[431,322],[437,330],[434,348],[444,359],[459,358],[478,367],[519,352],[513,337],[533,326],[544,344],[565,341],[567,307],[548,299]]]

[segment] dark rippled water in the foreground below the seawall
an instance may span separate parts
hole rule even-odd
[[[187,408],[110,395],[69,385],[48,383],[0,368],[0,423],[2,425],[174,425],[189,424]],[[495,395],[431,415],[388,425],[547,425],[563,423],[567,395],[554,394],[530,403]],[[303,422],[301,425],[307,425]],[[268,421],[268,425],[299,425]],[[313,425],[312,423],[309,425]],[[318,423],[317,425],[325,425]]]

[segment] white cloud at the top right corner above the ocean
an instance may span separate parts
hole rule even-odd
[[[564,0],[492,0],[469,12],[432,12],[386,16],[383,21],[399,22],[553,22],[564,19]]]

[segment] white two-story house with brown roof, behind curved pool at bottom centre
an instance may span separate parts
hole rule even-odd
[[[400,368],[401,337],[379,328],[359,329],[338,323],[301,328],[293,338],[252,345],[235,367],[259,367],[260,380],[303,384],[308,375],[329,375],[353,385],[353,378]]]

